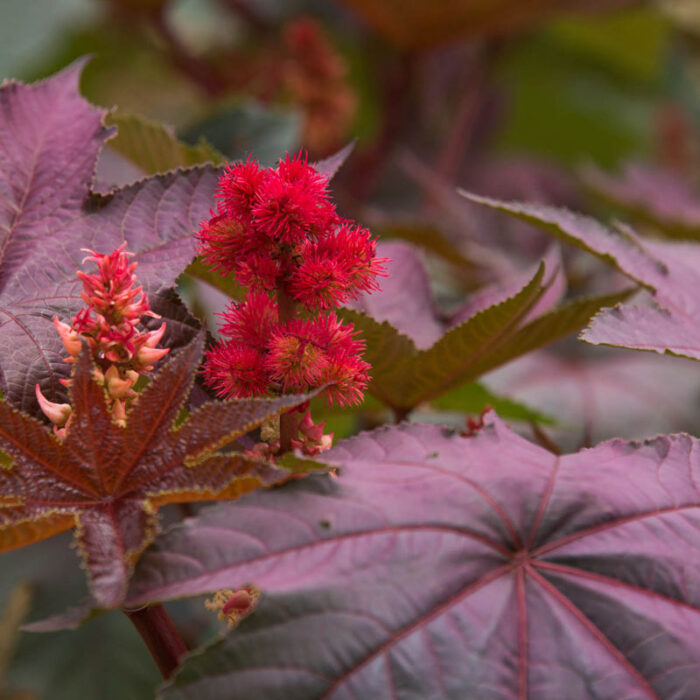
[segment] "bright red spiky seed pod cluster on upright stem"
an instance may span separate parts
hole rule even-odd
[[[221,314],[225,341],[207,354],[206,382],[226,398],[328,384],[330,402],[360,403],[364,342],[332,309],[378,289],[384,260],[370,232],[338,216],[327,178],[301,154],[276,168],[230,166],[218,199],[200,252],[249,293]]]

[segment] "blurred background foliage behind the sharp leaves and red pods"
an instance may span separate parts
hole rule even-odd
[[[97,189],[249,153],[269,165],[299,146],[319,159],[356,139],[333,181],[341,211],[422,248],[445,318],[466,293],[502,282],[551,243],[468,205],[457,186],[622,213],[650,235],[700,237],[697,0],[0,3],[0,76],[40,79],[84,54],[93,59],[83,93],[118,107]],[[660,182],[678,210],[660,212],[640,194]],[[590,257],[564,259],[570,294],[619,288]],[[201,265],[189,273],[182,291],[215,332],[223,283]],[[463,425],[488,403],[544,444],[576,448],[613,434],[697,434],[699,397],[697,369],[683,360],[571,339],[417,417]],[[361,411],[326,418],[342,436],[391,416],[370,397]],[[157,673],[122,616],[17,636],[26,616],[79,598],[75,564],[61,538],[3,555],[2,700],[153,696]],[[218,629],[198,601],[174,614],[192,644]]]

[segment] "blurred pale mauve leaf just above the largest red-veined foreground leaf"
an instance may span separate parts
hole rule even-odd
[[[694,362],[612,348],[589,355],[534,352],[481,381],[556,416],[557,427],[547,432],[574,449],[613,436],[635,439],[697,429],[700,375]]]

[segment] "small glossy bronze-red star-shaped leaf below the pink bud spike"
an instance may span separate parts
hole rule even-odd
[[[165,503],[230,499],[289,477],[269,462],[215,450],[309,395],[204,404],[173,423],[201,360],[200,335],[167,362],[115,425],[87,352],[71,385],[73,422],[59,442],[39,421],[0,403],[0,551],[75,527],[98,607],[118,605]]]

